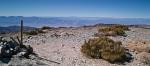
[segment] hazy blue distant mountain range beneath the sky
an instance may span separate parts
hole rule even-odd
[[[20,20],[24,20],[25,26],[41,27],[68,27],[104,24],[146,24],[150,25],[150,18],[109,18],[109,17],[22,17],[0,16],[0,26],[16,26]]]

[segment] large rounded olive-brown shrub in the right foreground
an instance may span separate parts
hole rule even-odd
[[[105,59],[109,62],[123,60],[125,49],[121,42],[115,42],[107,37],[89,39],[81,47],[81,52],[89,58]]]

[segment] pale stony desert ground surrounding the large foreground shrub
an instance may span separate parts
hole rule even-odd
[[[131,31],[126,32],[127,37],[110,37],[122,41],[123,46],[133,55],[134,59],[124,64],[111,64],[103,59],[89,59],[83,56],[80,52],[81,45],[84,40],[97,33],[97,28],[82,27],[46,30],[47,33],[35,36],[25,35],[24,44],[31,45],[34,52],[44,59],[13,57],[9,63],[0,63],[0,66],[148,66],[145,58],[150,59],[150,29],[130,29]]]

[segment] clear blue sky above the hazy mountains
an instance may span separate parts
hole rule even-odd
[[[0,0],[0,16],[150,18],[150,0]]]

